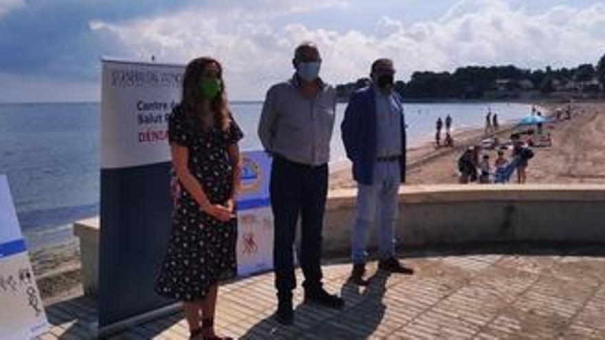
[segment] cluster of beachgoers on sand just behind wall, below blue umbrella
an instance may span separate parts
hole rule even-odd
[[[511,153],[507,159],[505,150],[509,150],[509,147]],[[517,183],[525,183],[533,150],[522,141],[520,135],[513,133],[508,143],[497,143],[495,150],[497,157],[492,166],[487,148],[479,145],[467,148],[458,159],[459,183],[507,183],[513,172],[517,174]]]

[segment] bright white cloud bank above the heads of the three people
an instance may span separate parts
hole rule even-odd
[[[179,61],[212,55],[223,62],[232,98],[262,98],[265,89],[292,72],[292,49],[315,41],[331,82],[366,76],[375,58],[395,60],[400,78],[415,70],[451,70],[461,65],[520,67],[595,63],[605,52],[605,5],[558,6],[529,14],[504,0],[463,0],[433,21],[405,24],[393,14],[373,32],[340,32],[280,19],[313,11],[342,10],[343,1],[229,1],[220,8],[189,8],[147,19],[95,21],[129,46],[128,54],[147,60]],[[245,3],[240,5],[240,3]],[[292,22],[294,20],[288,20]],[[342,23],[346,29],[347,23]]]

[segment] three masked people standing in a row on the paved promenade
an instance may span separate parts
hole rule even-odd
[[[305,303],[341,309],[342,297],[322,284],[322,228],[328,189],[330,139],[336,91],[320,78],[316,45],[296,47],[294,74],[267,91],[258,134],[272,156],[270,201],[274,214],[274,271],[281,324],[294,322],[294,240],[300,219],[300,267]],[[369,284],[366,262],[371,225],[377,222],[378,268],[412,274],[395,253],[399,185],[406,177],[406,124],[393,91],[395,67],[386,58],[370,67],[371,85],[353,93],[340,126],[358,182],[351,221],[351,282]],[[228,107],[223,68],[214,58],[186,67],[182,97],[168,120],[175,204],[168,248],[155,291],[183,302],[191,339],[225,339],[214,332],[218,284],[236,275],[237,218],[243,133]]]

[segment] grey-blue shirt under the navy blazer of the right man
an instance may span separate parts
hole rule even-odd
[[[401,115],[404,109],[393,94],[374,89],[376,98],[377,157],[401,156]]]

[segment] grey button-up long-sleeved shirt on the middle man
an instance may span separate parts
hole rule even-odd
[[[320,90],[314,98],[299,89],[296,76],[267,91],[259,122],[259,137],[267,152],[311,166],[328,163],[336,91],[318,82]]]

